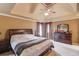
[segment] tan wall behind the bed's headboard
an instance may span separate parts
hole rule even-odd
[[[16,19],[6,16],[0,16],[0,40],[4,39],[5,33],[8,29],[34,29],[35,22],[29,20]]]

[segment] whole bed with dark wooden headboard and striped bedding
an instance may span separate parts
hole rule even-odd
[[[34,36],[32,29],[9,29],[7,34],[16,56],[42,56],[53,47],[51,40]]]

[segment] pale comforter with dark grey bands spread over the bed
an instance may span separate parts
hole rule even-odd
[[[25,37],[25,38],[24,38]],[[16,41],[19,41],[18,43]],[[11,38],[11,46],[15,55],[40,55],[47,48],[52,46],[52,42],[43,37],[18,35]],[[40,48],[39,48],[40,47]]]

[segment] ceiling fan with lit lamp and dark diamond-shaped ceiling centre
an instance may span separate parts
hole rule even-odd
[[[55,14],[56,12],[53,10],[53,6],[56,3],[41,3],[45,8],[40,9],[40,15],[44,15],[45,20],[46,19],[50,19],[52,17],[53,14]]]

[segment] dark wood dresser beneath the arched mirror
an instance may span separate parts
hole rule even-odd
[[[69,32],[54,32],[54,41],[72,44],[72,34]]]

